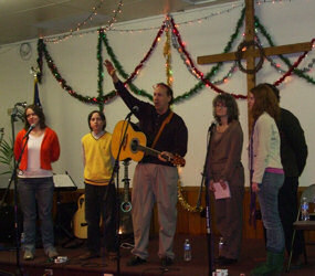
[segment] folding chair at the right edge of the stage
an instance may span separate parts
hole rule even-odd
[[[315,199],[315,184],[312,184],[309,187],[307,187],[304,192],[301,195],[301,203],[302,203],[302,199],[306,198],[306,201],[309,203],[312,203],[312,209],[308,209],[308,212],[312,216],[312,213],[315,213],[315,206],[314,206],[314,199]],[[305,231],[315,231],[315,221],[301,221],[301,203],[300,203],[300,208],[298,208],[298,213],[297,213],[297,217],[296,221],[293,223],[293,236],[292,236],[292,243],[291,243],[291,252],[290,252],[290,258],[288,258],[288,263],[287,263],[287,268],[286,272],[290,272],[291,268],[291,261],[292,261],[292,254],[293,254],[293,244],[294,244],[294,240],[295,240],[295,234],[297,230],[305,230]],[[309,243],[308,243],[309,244]],[[313,244],[313,243],[312,243]],[[305,243],[306,245],[306,243]],[[307,264],[307,255],[306,255],[306,247],[304,245],[304,261],[305,264]]]

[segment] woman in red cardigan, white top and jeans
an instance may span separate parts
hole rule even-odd
[[[24,259],[33,259],[35,254],[36,204],[41,220],[42,243],[50,258],[59,254],[54,247],[52,205],[53,172],[51,163],[60,156],[59,139],[45,125],[41,107],[31,105],[24,112],[24,128],[17,135],[14,157],[21,162],[18,172],[18,192],[23,211]],[[32,129],[29,134],[29,129]]]

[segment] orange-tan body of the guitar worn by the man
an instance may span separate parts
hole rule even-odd
[[[126,129],[127,128],[127,129]],[[125,120],[119,120],[114,129],[112,137],[112,155],[116,159],[119,151],[119,146],[122,139],[126,131],[125,140],[123,141],[123,147],[119,155],[119,160],[125,160],[127,158],[133,159],[134,161],[140,161],[145,152],[138,150],[138,146],[146,146],[147,138],[145,134],[140,131],[135,131],[130,124]]]

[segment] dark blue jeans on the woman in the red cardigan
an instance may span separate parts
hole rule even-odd
[[[53,178],[19,178],[18,192],[23,211],[23,248],[34,253],[36,240],[36,211],[41,221],[45,253],[54,248],[52,220]]]

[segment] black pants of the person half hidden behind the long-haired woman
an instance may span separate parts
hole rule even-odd
[[[285,248],[290,254],[292,236],[293,236],[293,223],[297,216],[298,203],[297,203],[297,189],[298,178],[285,178],[283,187],[279,191],[279,212],[280,219],[284,230]],[[293,257],[297,257],[304,251],[304,236],[303,231],[296,231]]]

